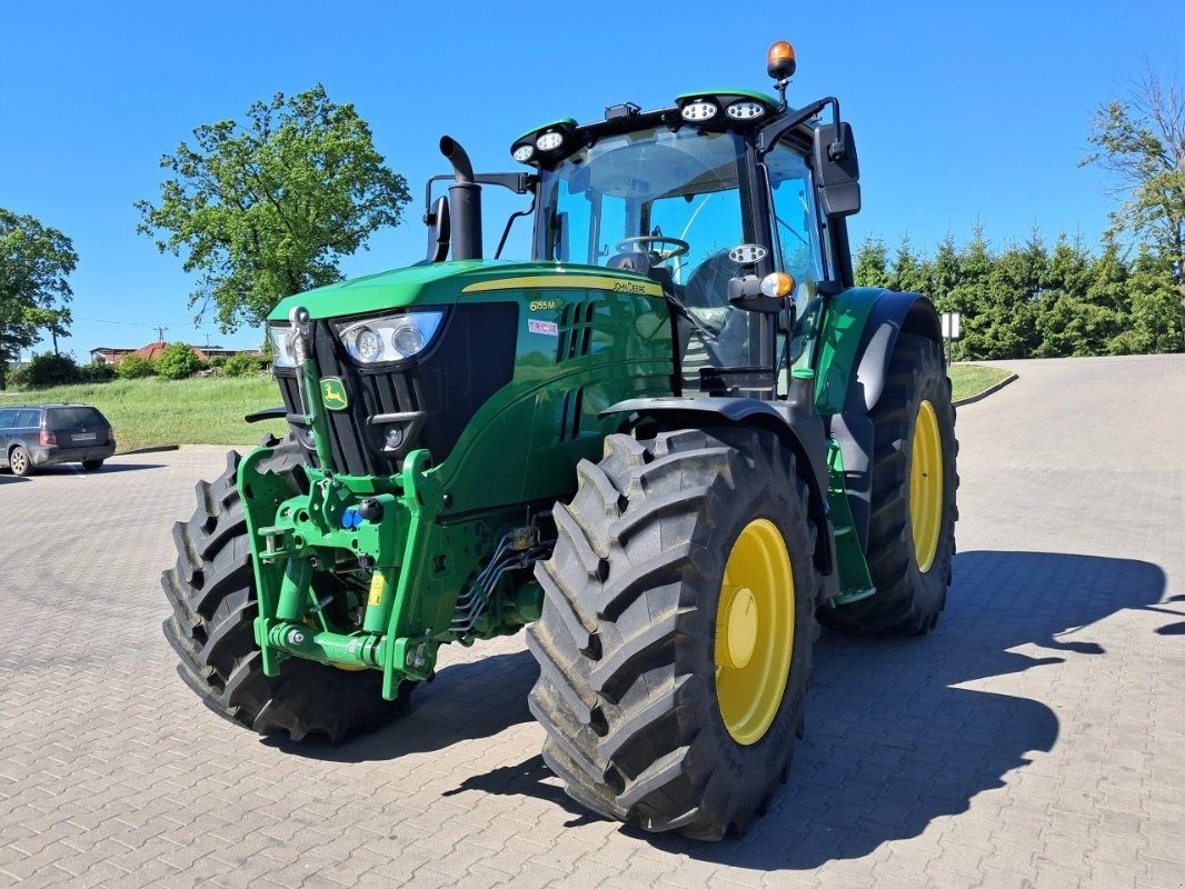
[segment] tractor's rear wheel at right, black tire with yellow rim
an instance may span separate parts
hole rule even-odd
[[[877,593],[839,608],[822,608],[819,619],[870,635],[928,633],[947,602],[959,517],[955,409],[936,343],[909,333],[897,338],[884,391],[870,418],[876,437],[866,555]],[[921,497],[911,503],[920,487],[925,492],[929,473],[921,462],[928,436],[941,452],[941,471],[935,473],[941,477],[941,491],[929,491],[929,506]],[[931,454],[928,465],[937,468],[936,462]]]

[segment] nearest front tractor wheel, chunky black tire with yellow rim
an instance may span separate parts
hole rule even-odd
[[[543,615],[527,631],[544,760],[607,818],[699,839],[741,833],[789,768],[818,634],[815,529],[794,458],[749,429],[610,435],[601,463],[582,461],[578,475],[571,505],[556,506],[556,549],[536,568]],[[729,603],[749,591],[725,569],[754,526],[789,564],[755,561],[793,582],[782,599],[757,597],[774,602],[775,619],[758,609],[742,653],[741,669],[766,651],[789,664],[779,674],[786,660],[764,661],[748,711],[763,714],[756,723],[737,718],[736,695],[719,684],[737,669],[722,663],[734,652]]]

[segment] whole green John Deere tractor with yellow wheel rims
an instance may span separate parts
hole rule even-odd
[[[819,623],[934,627],[957,485],[939,316],[853,286],[851,127],[834,98],[787,107],[788,44],[768,70],[779,98],[546,123],[511,145],[524,172],[475,174],[446,136],[427,258],[281,302],[284,404],[249,418],[290,434],[198,485],[164,574],[211,709],[337,741],[441,645],[527,627],[568,793],[716,839],[786,776]],[[482,257],[483,186],[530,196],[531,262]]]

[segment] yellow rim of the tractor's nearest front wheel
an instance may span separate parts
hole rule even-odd
[[[777,526],[750,522],[732,544],[716,608],[716,699],[732,738],[760,741],[794,653],[794,575]]]

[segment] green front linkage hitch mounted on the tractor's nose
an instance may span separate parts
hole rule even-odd
[[[293,309],[292,321],[307,411],[294,420],[313,429],[319,466],[305,467],[308,491],[293,497],[288,482],[267,468],[274,448],[258,448],[239,465],[258,596],[255,641],[267,676],[277,676],[289,657],[382,670],[383,697],[393,701],[405,679],[433,676],[442,642],[533,620],[538,590],[521,590],[508,609],[487,608],[505,570],[481,571],[483,586],[470,583],[460,597],[459,620],[457,593],[474,575],[476,555],[488,549],[485,526],[436,523],[444,492],[428,471],[427,449],[411,452],[391,477],[334,472],[308,312]],[[508,545],[493,556],[499,565],[514,565],[538,544],[533,527],[502,539]]]

